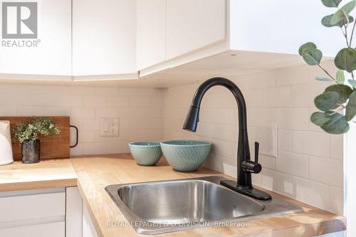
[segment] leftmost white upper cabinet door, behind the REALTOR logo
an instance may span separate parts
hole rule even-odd
[[[0,74],[70,76],[70,0],[1,1],[0,8]]]

